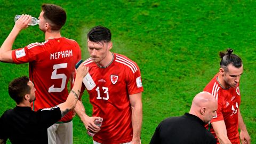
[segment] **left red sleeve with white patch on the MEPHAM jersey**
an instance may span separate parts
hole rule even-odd
[[[23,48],[12,51],[12,60],[14,63],[26,63],[36,60],[36,55],[43,50],[42,43],[31,43]]]

